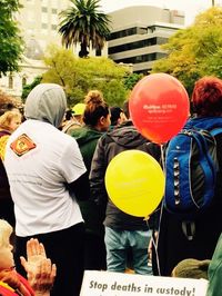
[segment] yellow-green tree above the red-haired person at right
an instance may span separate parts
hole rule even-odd
[[[191,95],[194,82],[203,76],[222,78],[222,8],[200,13],[192,26],[173,34],[163,49],[168,56],[155,61],[152,72],[178,78]]]

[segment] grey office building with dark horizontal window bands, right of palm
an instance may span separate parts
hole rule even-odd
[[[184,28],[184,13],[150,6],[129,7],[110,13],[109,58],[132,63],[133,72],[148,73],[165,56],[161,45]]]

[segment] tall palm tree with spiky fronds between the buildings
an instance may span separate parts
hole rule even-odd
[[[110,33],[109,17],[99,11],[99,0],[70,0],[73,7],[63,10],[59,24],[62,45],[67,48],[80,43],[79,57],[87,57],[90,43],[101,50]]]

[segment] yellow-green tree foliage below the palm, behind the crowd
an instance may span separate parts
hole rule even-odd
[[[104,57],[80,59],[70,49],[50,47],[44,58],[49,70],[42,82],[61,85],[68,97],[68,105],[82,101],[87,92],[98,89],[110,105],[121,105],[129,91],[123,85],[129,68],[119,66]]]

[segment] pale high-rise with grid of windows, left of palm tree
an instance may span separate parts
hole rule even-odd
[[[70,4],[69,0],[20,0],[17,13],[21,34],[27,45],[24,55],[41,59],[49,43],[61,43],[58,34],[59,13]]]

